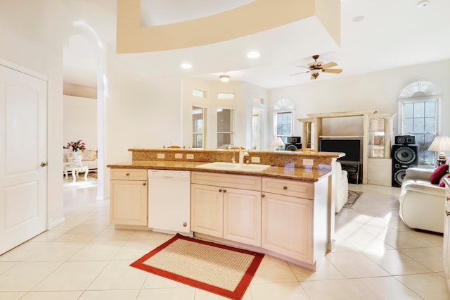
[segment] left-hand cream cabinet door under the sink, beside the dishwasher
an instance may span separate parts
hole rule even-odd
[[[223,237],[224,189],[210,185],[191,185],[191,230]]]

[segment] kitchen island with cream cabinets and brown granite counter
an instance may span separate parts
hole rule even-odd
[[[147,211],[151,209],[147,170],[185,170],[191,172],[191,220],[180,222],[188,225],[195,237],[270,254],[312,270],[331,248],[331,175],[333,162],[341,154],[249,151],[248,161],[257,157],[271,167],[242,171],[198,168],[212,161],[231,161],[236,155],[233,151],[130,151],[131,162],[108,165],[110,220],[117,227],[147,229]],[[167,218],[170,215],[167,211]]]

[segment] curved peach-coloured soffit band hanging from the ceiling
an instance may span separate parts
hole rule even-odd
[[[339,44],[338,0],[257,0],[229,11],[166,25],[141,26],[141,0],[117,1],[117,53],[186,49],[247,37],[293,22],[322,16]],[[309,27],[314,32],[316,27]]]

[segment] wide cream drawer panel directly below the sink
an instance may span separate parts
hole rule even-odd
[[[192,172],[191,183],[214,185],[217,187],[233,187],[235,189],[261,190],[261,177],[249,175],[231,175],[208,172]]]

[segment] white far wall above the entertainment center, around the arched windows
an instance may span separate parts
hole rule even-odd
[[[308,113],[341,111],[375,110],[379,113],[397,113],[399,93],[414,80],[428,80],[442,89],[444,98],[439,112],[442,123],[439,135],[450,135],[450,118],[447,117],[450,111],[450,61],[425,63],[331,80],[321,80],[319,77],[318,80],[304,85],[271,89],[269,107],[272,108],[278,99],[291,99],[295,103],[296,119],[307,118]],[[355,132],[361,132],[362,122],[356,121],[355,125],[342,126],[340,132],[333,128],[335,130],[333,134],[351,135],[352,126],[354,126]],[[396,115],[394,134],[398,133],[397,128]],[[345,132],[343,132],[344,130]],[[301,135],[301,132],[302,126],[297,122],[295,135]]]

